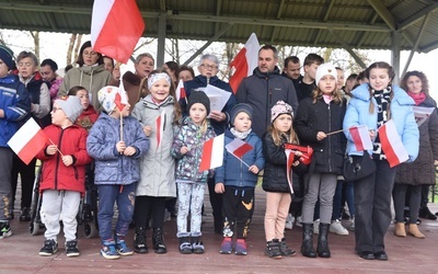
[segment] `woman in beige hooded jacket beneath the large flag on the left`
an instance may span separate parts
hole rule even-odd
[[[81,85],[90,92],[90,101],[94,109],[100,110],[97,92],[113,79],[111,72],[104,68],[102,54],[93,50],[91,42],[88,41],[82,44],[76,62],[78,67],[67,71],[64,77],[58,96],[65,96],[71,88]]]

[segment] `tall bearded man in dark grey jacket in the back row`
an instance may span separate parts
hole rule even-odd
[[[277,48],[265,45],[258,50],[258,62],[253,75],[242,80],[235,94],[239,103],[247,103],[254,110],[253,130],[262,137],[270,125],[270,109],[284,101],[298,109],[293,82],[280,76],[277,67]]]

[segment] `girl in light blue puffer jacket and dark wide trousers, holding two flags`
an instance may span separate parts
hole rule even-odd
[[[418,128],[415,123],[412,105],[414,100],[405,91],[391,82],[394,69],[384,61],[369,66],[366,77],[369,83],[362,83],[353,90],[344,119],[344,129],[366,125],[373,148],[372,155],[377,170],[371,175],[355,182],[355,250],[365,260],[388,260],[384,236],[391,224],[391,193],[394,186],[396,169],[391,168],[385,157],[388,149],[382,149],[382,140],[377,129],[390,119],[395,125],[394,134],[399,135],[407,151],[406,162],[413,162],[418,155]],[[361,156],[349,130],[344,130],[347,139],[347,153]]]

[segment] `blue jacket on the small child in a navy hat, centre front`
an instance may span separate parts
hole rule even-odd
[[[226,146],[234,140],[234,136],[229,129],[226,130],[224,135]],[[265,158],[263,158],[262,139],[252,132],[243,141],[251,145],[253,149],[243,155],[242,161],[250,167],[255,164],[258,170],[263,170],[265,168]],[[238,158],[228,152],[227,149],[223,149],[223,164],[216,169],[216,183],[239,187],[255,187],[257,175],[247,169]]]

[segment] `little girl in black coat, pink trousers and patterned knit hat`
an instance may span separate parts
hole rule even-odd
[[[287,157],[283,146],[285,142],[299,144],[292,128],[292,107],[284,101],[278,101],[270,109],[270,126],[263,135],[263,156],[266,160],[262,184],[266,191],[265,254],[273,259],[296,254],[295,250],[286,244],[285,238],[286,217],[292,197],[286,171]],[[295,157],[301,155],[300,151],[295,152]],[[295,161],[292,165],[292,181],[298,181],[295,172],[302,172],[306,165],[299,161]]]

